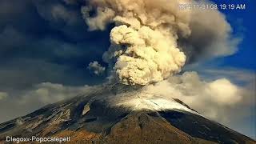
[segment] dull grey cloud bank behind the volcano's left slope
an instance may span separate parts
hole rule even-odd
[[[50,103],[90,93],[94,87],[96,86],[63,86],[43,82],[34,85],[30,90],[18,91],[16,94],[0,92],[0,122],[29,114]]]

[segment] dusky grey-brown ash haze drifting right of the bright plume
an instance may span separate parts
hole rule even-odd
[[[234,54],[241,42],[232,37],[232,27],[218,10],[191,10],[189,25],[190,36],[178,39],[189,63]]]

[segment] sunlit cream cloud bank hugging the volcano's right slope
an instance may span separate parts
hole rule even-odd
[[[247,73],[255,78],[254,72]],[[147,93],[178,98],[199,113],[226,126],[236,125],[246,118],[254,118],[255,83],[247,79],[239,86],[227,78],[205,81],[196,72],[185,72],[163,82],[145,87]],[[253,120],[253,121],[254,121]],[[244,129],[250,129],[246,127]]]

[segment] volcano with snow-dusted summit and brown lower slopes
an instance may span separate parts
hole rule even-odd
[[[98,86],[0,124],[13,137],[70,137],[69,143],[256,143],[174,98],[136,86]]]

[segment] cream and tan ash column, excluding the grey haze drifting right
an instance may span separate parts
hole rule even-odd
[[[91,8],[96,16],[89,17]],[[178,73],[186,56],[178,48],[178,33],[190,34],[186,12],[166,1],[90,1],[82,8],[90,30],[104,30],[110,22],[110,48],[103,60],[113,66],[119,82],[146,85]]]

